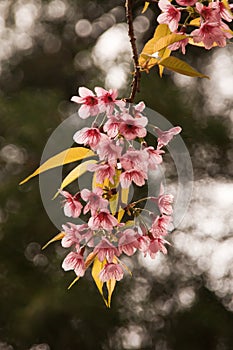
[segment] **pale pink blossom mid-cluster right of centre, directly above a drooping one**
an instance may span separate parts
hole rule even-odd
[[[130,147],[128,151],[120,158],[120,162],[125,170],[147,170],[148,154]]]

